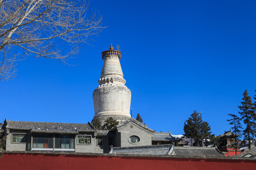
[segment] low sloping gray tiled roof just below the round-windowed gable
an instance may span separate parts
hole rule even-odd
[[[172,152],[172,144],[114,147],[110,153],[122,155],[168,155]]]

